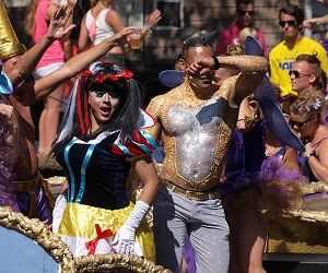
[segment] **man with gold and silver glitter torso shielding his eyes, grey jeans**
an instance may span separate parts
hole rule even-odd
[[[263,57],[213,54],[204,37],[187,39],[179,59],[185,82],[154,97],[147,108],[156,120],[147,131],[163,141],[165,151],[162,188],[153,204],[156,262],[173,272],[181,271],[187,236],[198,272],[227,272],[229,226],[220,178],[238,105],[267,71]],[[204,63],[207,69],[202,69]],[[220,66],[241,73],[218,87],[212,80],[213,69]]]

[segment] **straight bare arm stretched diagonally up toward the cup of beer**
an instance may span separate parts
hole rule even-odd
[[[98,60],[104,54],[106,54],[112,47],[122,45],[127,43],[127,37],[132,33],[136,27],[125,27],[119,33],[114,34],[109,38],[103,40],[97,46],[94,46],[68,60],[65,66],[49,74],[46,78],[37,80],[32,83],[24,84],[24,88],[33,88],[35,97],[28,97],[28,105],[35,103],[35,100],[48,95],[59,85],[67,80],[80,73],[90,63]],[[24,90],[22,88],[22,90]]]

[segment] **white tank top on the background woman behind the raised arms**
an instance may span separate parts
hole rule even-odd
[[[91,14],[91,10],[86,12],[85,26],[89,32],[92,45],[94,46],[115,34],[113,27],[107,25],[105,21],[108,11],[109,9],[102,10],[96,17]],[[94,31],[94,24],[95,33],[94,35],[92,35],[92,32]]]

